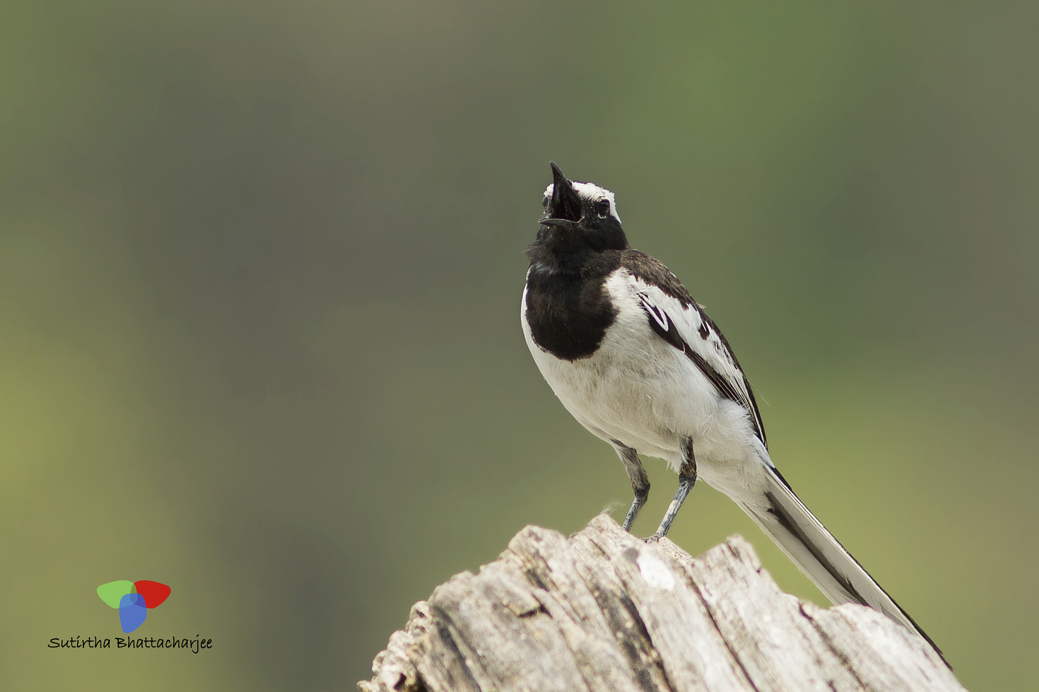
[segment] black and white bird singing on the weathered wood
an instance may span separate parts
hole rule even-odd
[[[639,453],[658,456],[678,473],[678,489],[650,539],[667,533],[702,478],[834,604],[870,606],[934,646],[776,469],[732,349],[674,274],[628,244],[613,193],[551,165],[544,216],[527,248],[524,336],[566,410],[610,443],[628,471],[635,499],[624,529],[649,495]]]

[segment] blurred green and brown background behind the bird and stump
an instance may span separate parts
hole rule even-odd
[[[971,690],[1039,687],[1039,5],[0,7],[0,674],[350,690],[526,524],[627,508],[518,304],[548,161],[708,306],[780,469]],[[647,460],[650,533],[675,477]],[[726,498],[735,532],[823,597]],[[122,636],[95,594],[172,594]]]

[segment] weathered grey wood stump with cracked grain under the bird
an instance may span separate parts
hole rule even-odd
[[[734,536],[700,557],[602,515],[528,526],[411,608],[363,692],[958,690],[915,633],[783,593]]]

